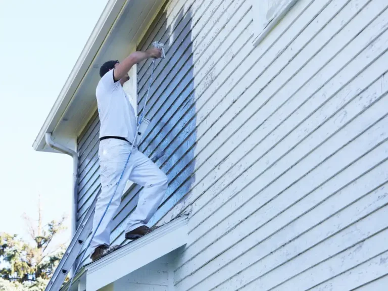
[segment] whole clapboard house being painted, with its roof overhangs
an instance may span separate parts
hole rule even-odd
[[[139,148],[165,151],[169,187],[163,226],[126,244],[127,185],[125,246],[85,260],[74,290],[386,290],[387,7],[109,0],[33,147],[74,157],[75,232],[100,191],[99,67],[161,41]],[[138,114],[150,65],[125,85]]]

